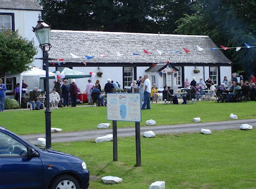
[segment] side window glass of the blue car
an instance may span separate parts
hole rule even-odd
[[[1,156],[27,156],[27,147],[13,139],[6,133],[0,132],[0,157]]]

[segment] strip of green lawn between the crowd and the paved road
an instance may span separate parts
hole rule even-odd
[[[215,103],[197,102],[193,105],[152,104],[151,110],[142,110],[141,126],[145,121],[154,119],[157,125],[177,125],[192,123],[193,117],[202,122],[229,120],[230,113],[238,119],[256,118],[255,102]],[[111,123],[107,120],[106,107],[76,107],[52,110],[52,127],[62,128],[63,132],[92,130],[99,123]],[[12,110],[0,113],[0,125],[17,134],[45,132],[44,110]],[[118,122],[118,128],[133,127],[131,122]]]

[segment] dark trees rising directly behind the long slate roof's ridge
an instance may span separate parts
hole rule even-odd
[[[52,29],[173,33],[195,0],[41,0]]]

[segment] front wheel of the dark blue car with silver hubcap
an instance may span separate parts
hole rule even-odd
[[[77,182],[77,180],[69,175],[63,175],[63,176],[59,176],[58,178],[54,179],[54,181],[52,182],[51,189],[79,189],[79,183]]]

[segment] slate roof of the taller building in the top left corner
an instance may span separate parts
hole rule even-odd
[[[43,10],[37,0],[1,0],[0,8],[15,10]]]

